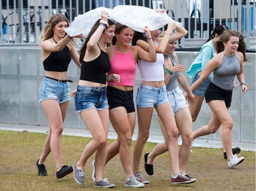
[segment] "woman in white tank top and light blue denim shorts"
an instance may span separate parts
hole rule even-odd
[[[156,10],[161,14],[166,14],[165,10]],[[177,33],[171,35],[175,30]],[[183,27],[177,26],[176,22],[171,21],[168,24],[164,37],[159,37],[160,30],[151,31],[151,35],[156,46],[156,62],[147,62],[146,60],[138,60],[139,70],[141,72],[142,82],[137,91],[136,105],[138,114],[139,131],[134,146],[133,154],[133,173],[139,181],[149,184],[150,181],[143,177],[139,170],[143,147],[150,135],[150,124],[152,120],[153,109],[155,108],[158,116],[162,120],[168,137],[169,157],[171,162],[171,184],[189,184],[195,180],[186,177],[180,173],[179,156],[178,156],[178,130],[175,124],[173,111],[167,98],[165,87],[165,73],[162,69],[164,65],[163,52],[167,44],[184,37],[188,33]],[[149,44],[142,33],[136,33],[132,39],[132,44],[139,45],[145,50],[149,50]]]

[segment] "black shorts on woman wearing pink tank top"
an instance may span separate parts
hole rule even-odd
[[[126,108],[127,113],[132,113],[135,111],[133,90],[123,91],[111,86],[107,86],[106,96],[108,97],[109,109],[113,109],[115,107],[124,107]]]

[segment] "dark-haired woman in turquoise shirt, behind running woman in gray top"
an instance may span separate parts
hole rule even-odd
[[[207,63],[216,55],[216,49],[214,48],[214,45],[216,44],[216,41],[218,41],[218,38],[223,33],[223,31],[227,29],[229,28],[226,27],[225,25],[218,25],[212,31],[212,34],[210,35],[209,39],[205,41],[205,44],[201,48],[199,55],[197,56],[197,58],[195,58],[192,65],[190,65],[190,68],[188,69],[188,71],[186,71],[186,74],[188,75],[188,77],[193,79],[190,86],[192,86],[199,79]],[[193,103],[189,103],[189,107],[188,107],[190,110],[190,114],[192,116],[193,122],[197,120],[197,116],[199,114],[199,111],[201,110],[201,106],[205,96],[205,90],[209,86],[211,80],[212,80],[212,73],[205,80],[205,82],[203,82],[203,84],[201,84],[197,89],[193,91],[193,94],[195,94],[195,101]],[[222,130],[222,127],[220,128],[220,135],[222,139],[221,130]],[[193,151],[193,147],[191,146],[191,152],[192,151]],[[233,151],[233,154],[239,154],[241,150],[240,150],[240,147],[235,147],[232,149],[232,151]],[[227,154],[225,151],[223,152],[223,156],[224,158],[227,158]]]

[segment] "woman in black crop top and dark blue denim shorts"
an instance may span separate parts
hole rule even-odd
[[[111,44],[115,36],[115,23],[108,19],[109,14],[102,11],[101,20],[97,20],[89,32],[80,50],[82,63],[81,75],[75,95],[76,113],[80,114],[85,126],[92,135],[85,145],[79,161],[73,164],[74,179],[78,184],[85,184],[84,168],[88,158],[96,152],[96,175],[94,186],[113,188],[108,179],[102,178],[107,152],[109,131],[109,105],[106,98],[106,82],[119,82],[117,74],[106,75],[111,69],[106,44]]]

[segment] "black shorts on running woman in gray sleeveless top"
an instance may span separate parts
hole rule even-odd
[[[212,100],[223,100],[225,101],[226,107],[230,107],[232,100],[232,92],[233,90],[223,90],[223,88],[220,88],[212,84],[212,82],[210,82],[210,85],[208,86],[205,92],[205,101],[206,103],[208,103]]]

